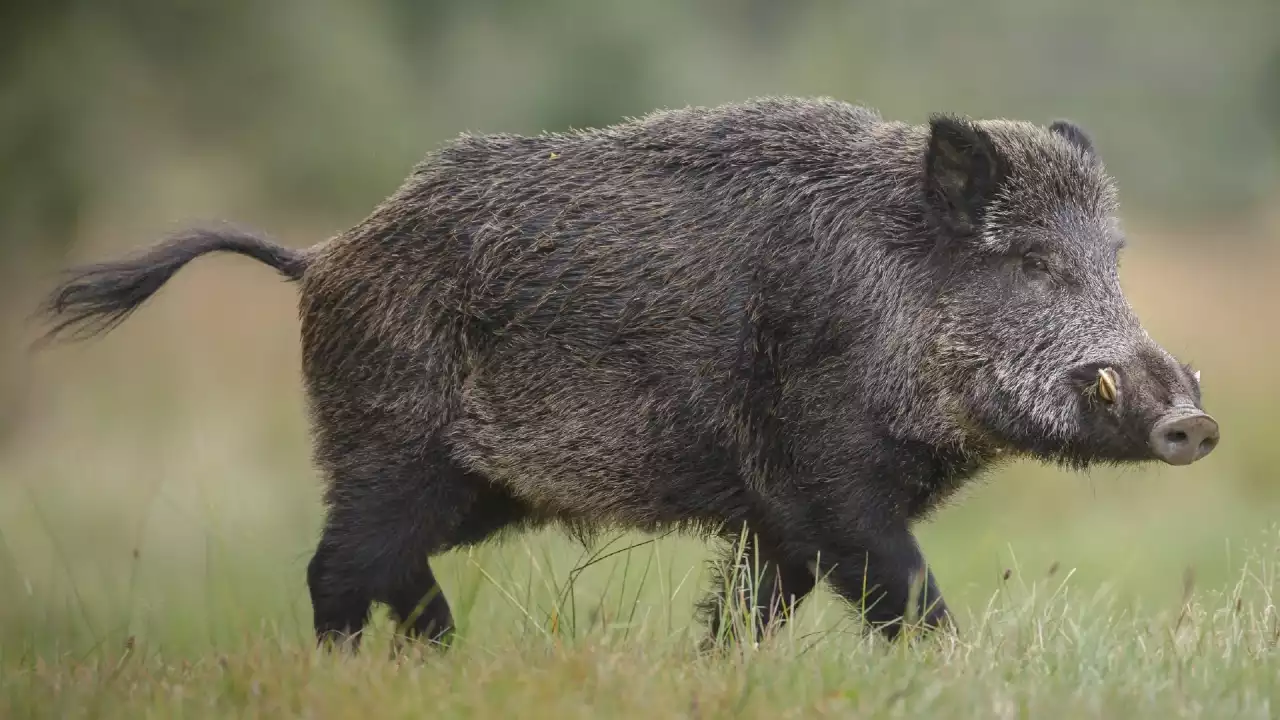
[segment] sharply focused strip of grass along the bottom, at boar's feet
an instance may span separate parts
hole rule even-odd
[[[246,624],[246,637],[189,655],[140,642],[6,657],[3,698],[9,717],[1270,717],[1280,625],[1268,555],[1170,612],[1125,611],[1070,580],[1011,583],[959,637],[915,646],[863,639],[827,607],[758,650],[707,657],[660,603],[605,602],[616,620],[571,629],[534,615],[532,591],[468,606],[448,656],[393,662],[376,637],[357,657],[325,657],[296,628]]]

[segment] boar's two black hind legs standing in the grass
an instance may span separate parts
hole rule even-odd
[[[447,642],[453,615],[429,557],[480,542],[525,515],[443,447],[403,462],[385,457],[361,452],[330,465],[325,528],[307,568],[320,643],[358,647],[374,602],[390,606],[404,634]]]

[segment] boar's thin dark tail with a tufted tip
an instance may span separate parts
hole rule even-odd
[[[236,252],[275,268],[298,281],[308,258],[236,228],[192,228],[122,260],[73,268],[45,300],[40,314],[52,322],[42,340],[69,334],[73,340],[105,333],[123,323],[183,265],[206,252]]]

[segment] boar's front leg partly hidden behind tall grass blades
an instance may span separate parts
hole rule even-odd
[[[730,536],[726,569],[701,603],[709,637],[704,647],[722,641],[756,639],[780,629],[814,588],[808,565],[786,556],[772,538],[749,532]]]

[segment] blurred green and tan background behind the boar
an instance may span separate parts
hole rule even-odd
[[[0,9],[0,648],[310,632],[320,486],[293,288],[206,258],[105,340],[31,355],[58,269],[210,219],[311,245],[460,132],[758,95],[1082,123],[1120,182],[1129,297],[1203,372],[1224,430],[1206,461],[1019,464],[923,527],[951,605],[980,610],[1004,569],[1055,562],[1085,593],[1155,609],[1176,606],[1188,568],[1233,582],[1280,511],[1274,0],[15,0]],[[637,597],[687,624],[701,544],[644,552],[666,579]],[[445,589],[471,588],[472,619],[515,621],[534,609],[509,588],[580,556],[522,538],[447,559]],[[614,592],[625,562],[582,592]]]

